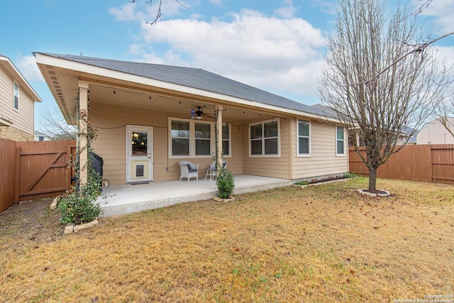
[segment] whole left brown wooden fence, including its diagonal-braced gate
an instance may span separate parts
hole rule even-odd
[[[76,141],[15,142],[0,138],[0,211],[19,201],[55,197],[71,186]]]

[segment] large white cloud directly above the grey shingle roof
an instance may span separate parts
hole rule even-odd
[[[291,1],[287,1],[291,4]],[[325,40],[301,18],[277,18],[258,11],[232,13],[228,21],[191,19],[141,26],[142,42],[131,53],[159,64],[200,67],[270,92],[316,97]],[[167,52],[157,55],[159,45]]]

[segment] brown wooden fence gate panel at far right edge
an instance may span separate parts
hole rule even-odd
[[[454,145],[431,147],[432,182],[454,184]]]

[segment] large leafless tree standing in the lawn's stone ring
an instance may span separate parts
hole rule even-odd
[[[370,192],[377,168],[403,147],[404,130],[433,114],[447,76],[438,72],[430,44],[414,51],[415,18],[401,8],[388,18],[385,11],[384,1],[340,1],[319,79],[322,103],[365,144],[365,157],[355,148],[369,169]]]

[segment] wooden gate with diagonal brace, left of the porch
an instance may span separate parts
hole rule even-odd
[[[75,141],[18,142],[15,200],[54,197],[70,189]]]

